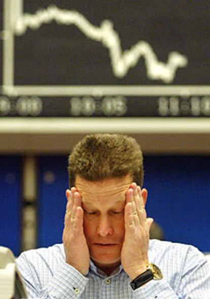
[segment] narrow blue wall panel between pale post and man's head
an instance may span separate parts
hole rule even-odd
[[[67,157],[41,157],[38,185],[38,246],[45,247],[62,242],[68,188]]]

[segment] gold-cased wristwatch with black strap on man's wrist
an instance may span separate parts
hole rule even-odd
[[[135,290],[152,279],[160,280],[162,278],[160,269],[154,263],[147,263],[147,270],[134,278],[130,285]]]

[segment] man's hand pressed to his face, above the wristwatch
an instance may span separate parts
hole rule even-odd
[[[141,190],[136,183],[132,183],[126,192],[125,237],[121,263],[131,280],[147,270],[149,231],[153,219],[147,218],[143,193],[144,197],[147,197],[146,189]]]

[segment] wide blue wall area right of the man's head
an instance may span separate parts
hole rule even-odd
[[[210,251],[210,158],[146,156],[147,210],[166,240]]]

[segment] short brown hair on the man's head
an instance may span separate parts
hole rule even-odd
[[[143,155],[135,139],[121,134],[87,135],[68,157],[69,186],[75,186],[76,175],[89,180],[119,178],[130,174],[142,187]]]

